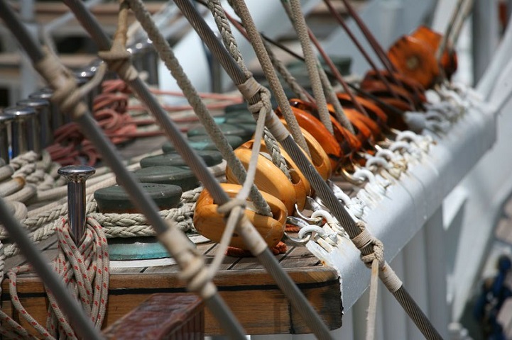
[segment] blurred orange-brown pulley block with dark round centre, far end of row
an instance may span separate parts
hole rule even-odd
[[[388,50],[388,57],[400,72],[418,81],[425,89],[430,88],[440,75],[435,51],[418,38],[407,35],[399,38]]]

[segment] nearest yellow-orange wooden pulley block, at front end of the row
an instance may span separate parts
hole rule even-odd
[[[220,186],[226,191],[230,198],[235,197],[236,193],[241,189],[241,186],[232,183],[220,183]],[[270,206],[272,216],[259,215],[254,212],[254,210],[251,210],[250,207],[252,203],[249,200],[247,201],[245,215],[254,227],[256,227],[256,230],[258,230],[263,239],[265,239],[268,246],[273,247],[276,246],[283,237],[288,211],[283,202],[278,200],[278,198],[263,191],[261,194]],[[195,205],[193,220],[195,229],[213,242],[220,241],[225,226],[224,215],[217,212],[218,207],[219,205],[214,203],[212,195],[207,189],[202,191]],[[247,249],[241,236],[236,233],[233,234],[229,245]]]

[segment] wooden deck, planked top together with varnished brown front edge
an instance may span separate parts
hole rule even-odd
[[[57,243],[42,244],[48,258],[56,254]],[[197,244],[197,249],[211,262],[217,244]],[[278,256],[285,271],[298,284],[307,300],[315,307],[330,329],[342,326],[342,302],[339,278],[334,268],[322,266],[305,247],[290,247]],[[25,263],[22,256],[14,256],[7,266]],[[254,258],[224,258],[214,283],[248,334],[303,334],[310,333],[300,315],[293,310],[285,295],[273,279]],[[48,300],[43,285],[35,275],[18,278],[21,303],[38,321],[44,322]],[[109,302],[104,327],[134,309],[154,293],[183,293],[183,283],[178,279],[178,266],[153,266],[139,268],[111,268]],[[9,280],[2,285],[1,308],[11,314],[23,327],[30,326],[11,309]],[[206,312],[207,334],[222,334],[212,314]]]

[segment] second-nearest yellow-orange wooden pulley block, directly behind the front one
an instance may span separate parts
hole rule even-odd
[[[240,159],[241,164],[245,169],[249,167],[249,161],[251,159],[251,150],[246,148],[238,148],[234,150],[234,154]],[[236,177],[233,174],[232,169],[226,166],[226,180],[227,183],[238,183]],[[272,163],[270,159],[267,159],[263,155],[259,155],[258,164],[256,166],[256,176],[254,176],[254,185],[259,190],[265,191],[272,196],[281,200],[284,203],[286,210],[293,213],[297,198],[295,196],[295,188],[292,182],[288,180],[288,177],[281,171],[276,165]]]

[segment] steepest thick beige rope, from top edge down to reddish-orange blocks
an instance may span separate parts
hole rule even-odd
[[[293,23],[293,27],[295,28],[300,41],[300,46],[303,49],[307,74],[310,76],[311,87],[315,100],[317,101],[320,120],[322,121],[322,124],[325,125],[325,128],[327,128],[331,134],[334,134],[330,114],[327,110],[327,101],[325,100],[324,89],[322,88],[322,81],[320,80],[320,74],[318,73],[319,67],[317,64],[317,58],[315,57],[311,47],[309,35],[307,35],[307,26],[303,10],[300,7],[300,0],[290,0],[290,6],[288,6],[288,3],[285,3],[284,1],[281,2]]]

